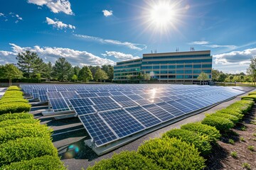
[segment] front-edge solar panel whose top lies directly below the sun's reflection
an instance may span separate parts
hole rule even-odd
[[[155,104],[144,105],[142,107],[145,108],[146,111],[149,111],[150,113],[155,115],[157,118],[159,118],[163,122],[174,118],[174,115],[171,115],[171,113],[164,111],[164,109],[160,108],[159,106],[156,106]]]

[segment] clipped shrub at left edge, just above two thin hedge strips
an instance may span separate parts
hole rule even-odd
[[[4,113],[28,112],[31,105],[28,103],[5,103],[0,105],[0,115]]]

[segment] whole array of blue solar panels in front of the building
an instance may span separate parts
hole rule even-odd
[[[96,147],[245,92],[221,86],[170,84],[28,84],[22,89],[40,100],[47,98],[55,113],[74,110]]]

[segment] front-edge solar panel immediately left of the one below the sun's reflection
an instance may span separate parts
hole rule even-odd
[[[140,106],[136,106],[133,108],[124,108],[131,115],[134,116],[139,122],[141,122],[146,128],[150,128],[154,125],[161,123],[159,118],[156,118],[154,115],[151,115],[148,111],[144,110]]]

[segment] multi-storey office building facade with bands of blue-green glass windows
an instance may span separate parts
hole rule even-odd
[[[205,72],[210,80],[212,63],[210,50],[144,54],[140,60],[118,62],[114,67],[114,80],[127,80],[127,75],[135,77],[139,72],[170,82],[197,81],[198,75]]]

